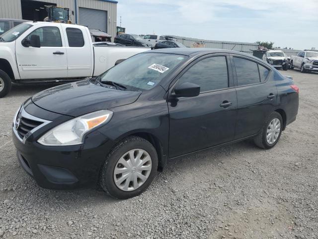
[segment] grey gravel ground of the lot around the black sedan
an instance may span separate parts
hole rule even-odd
[[[282,73],[300,87],[300,108],[274,148],[245,141],[171,160],[124,201],[42,189],[26,175],[11,120],[45,87],[14,86],[0,99],[0,238],[318,239],[318,74]]]

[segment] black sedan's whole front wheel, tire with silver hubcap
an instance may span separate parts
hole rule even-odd
[[[131,154],[131,152],[133,153]],[[140,154],[142,154],[141,159],[138,159]],[[129,161],[132,159],[131,155],[133,155],[133,158],[137,158],[134,158],[134,160],[140,160],[138,161],[139,163],[142,163],[144,160],[147,161],[141,166],[129,164]],[[132,163],[132,161],[130,161],[130,163]],[[123,162],[123,164],[121,162]],[[129,168],[129,165],[134,167]],[[148,171],[138,170],[138,168],[141,167],[143,169],[147,168]],[[157,174],[157,169],[158,155],[155,147],[144,138],[130,136],[119,142],[107,155],[104,165],[101,168],[99,184],[107,194],[114,198],[132,198],[140,195],[148,188]],[[117,174],[115,174],[115,170]],[[125,171],[119,173],[121,170]],[[123,180],[125,177],[126,179]],[[129,182],[127,179],[129,179]],[[134,179],[136,179],[136,181]],[[117,183],[115,180],[117,180]]]

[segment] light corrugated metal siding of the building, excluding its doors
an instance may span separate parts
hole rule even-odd
[[[100,9],[107,11],[107,33],[116,36],[117,24],[117,4],[113,2],[101,0],[77,0],[77,9],[75,9],[75,0],[43,0],[44,2],[56,3],[57,6],[68,7],[71,12],[78,12],[79,22],[79,7]],[[21,0],[0,0],[0,18],[17,18],[22,19]],[[75,15],[71,15],[72,21],[75,23]]]

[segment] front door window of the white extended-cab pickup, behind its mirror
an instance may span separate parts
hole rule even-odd
[[[30,40],[32,35],[40,37],[41,47],[62,47],[60,30],[55,26],[40,27],[32,31],[27,38]]]

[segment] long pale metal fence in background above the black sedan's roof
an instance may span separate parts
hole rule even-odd
[[[207,48],[227,49],[227,50],[241,51],[248,54],[252,54],[253,53],[252,50],[256,50],[258,48],[257,43],[213,41],[213,40],[204,40],[204,39],[174,36],[174,35],[165,35],[165,36],[182,43],[186,47],[207,47]]]

